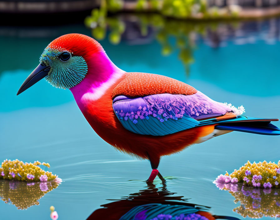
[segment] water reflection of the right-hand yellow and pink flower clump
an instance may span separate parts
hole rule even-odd
[[[243,217],[280,218],[280,189],[248,187],[243,183],[216,183],[221,190],[227,190],[240,202],[240,206],[233,209]]]

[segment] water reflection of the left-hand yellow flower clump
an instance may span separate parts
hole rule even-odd
[[[47,192],[58,187],[58,183],[0,180],[0,198],[5,203],[11,203],[17,209],[27,209],[39,205],[38,200]]]

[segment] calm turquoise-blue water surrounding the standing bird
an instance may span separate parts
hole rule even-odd
[[[127,41],[112,45],[107,39],[100,42],[111,60],[127,72],[173,77],[216,101],[243,105],[247,116],[279,118],[280,35],[274,31],[271,39],[267,34],[271,32],[267,24],[272,21],[251,22],[262,26],[257,30],[244,25],[242,37],[230,36],[222,40],[220,47],[213,48],[199,37],[188,75],[178,59],[178,50],[163,56],[161,45],[153,37],[142,45]],[[22,29],[1,30],[1,48],[7,54],[1,53],[0,67],[0,160],[47,162],[51,165],[47,170],[64,181],[42,197],[39,206],[27,210],[17,210],[0,201],[1,217],[49,219],[49,207],[53,205],[59,219],[86,219],[100,205],[110,203],[108,199],[118,200],[147,189],[143,181],[151,171],[149,162],[119,153],[99,138],[70,91],[56,89],[42,80],[16,96],[53,38],[69,32],[90,35],[90,30],[83,25],[54,27],[46,37],[30,36]],[[246,40],[252,37],[254,41]],[[174,41],[170,39],[171,44]],[[274,124],[280,126],[279,122]],[[242,218],[232,211],[240,204],[235,204],[234,197],[219,190],[212,181],[225,171],[238,169],[247,160],[277,162],[279,143],[277,136],[232,132],[163,157],[159,171],[173,177],[167,179],[166,188],[176,196],[211,207],[213,214]],[[162,187],[158,178],[155,187]]]

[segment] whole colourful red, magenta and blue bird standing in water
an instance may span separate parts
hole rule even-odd
[[[271,121],[242,116],[244,108],[218,103],[178,80],[127,73],[103,47],[83,34],[66,34],[43,51],[18,94],[41,80],[70,89],[88,123],[114,148],[148,159],[152,173],[164,155],[231,131],[280,135]]]

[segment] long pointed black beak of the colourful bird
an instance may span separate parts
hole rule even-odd
[[[33,86],[42,78],[46,77],[50,71],[50,66],[45,66],[40,63],[36,69],[27,77],[27,79],[22,83],[21,87],[19,88],[17,95],[22,93],[23,91],[27,90],[29,87]]]

